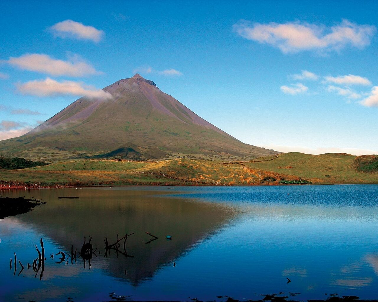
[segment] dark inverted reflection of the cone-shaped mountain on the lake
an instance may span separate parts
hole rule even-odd
[[[150,279],[160,267],[173,265],[174,260],[196,242],[235,216],[235,211],[226,210],[224,206],[156,197],[159,192],[154,191],[65,189],[30,191],[29,194],[47,203],[15,217],[15,221],[45,234],[65,251],[71,251],[72,245],[74,250],[80,251],[84,236],[87,240],[91,236],[93,249],[98,247],[100,252],[99,258],[92,260],[92,266],[98,265],[108,274],[127,279],[133,285]],[[79,199],[59,200],[60,196]],[[158,240],[146,245],[151,239],[146,231]],[[126,259],[121,254],[117,257],[110,251],[107,256],[110,261],[103,261],[105,237],[113,243],[117,241],[117,234],[121,238],[127,233],[135,233],[126,242],[127,254],[134,257]],[[172,236],[172,240],[166,240],[166,235]],[[120,244],[123,250],[123,240]],[[77,261],[78,264],[83,262],[82,259]]]

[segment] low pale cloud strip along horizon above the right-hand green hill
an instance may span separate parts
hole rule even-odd
[[[359,148],[307,148],[298,146],[280,146],[280,145],[268,145],[265,148],[277,150],[280,152],[301,152],[305,154],[324,154],[324,153],[347,153],[352,155],[366,155],[366,154],[378,154],[378,150],[372,149],[359,149]]]

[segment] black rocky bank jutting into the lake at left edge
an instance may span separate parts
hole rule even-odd
[[[40,200],[25,199],[24,197],[0,197],[0,219],[29,212],[34,206],[44,203]]]

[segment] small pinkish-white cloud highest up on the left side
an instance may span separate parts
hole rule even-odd
[[[54,37],[92,40],[93,42],[99,42],[104,36],[104,31],[73,20],[56,23],[50,27],[50,31],[53,32]]]

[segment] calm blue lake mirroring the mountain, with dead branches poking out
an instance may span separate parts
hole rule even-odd
[[[46,202],[0,220],[0,301],[378,297],[378,185],[0,193]],[[59,199],[69,196],[79,198]],[[118,251],[105,250],[105,237],[111,244],[131,233]],[[78,253],[84,236],[97,248],[90,263]],[[38,259],[41,238],[42,278],[27,269]]]

